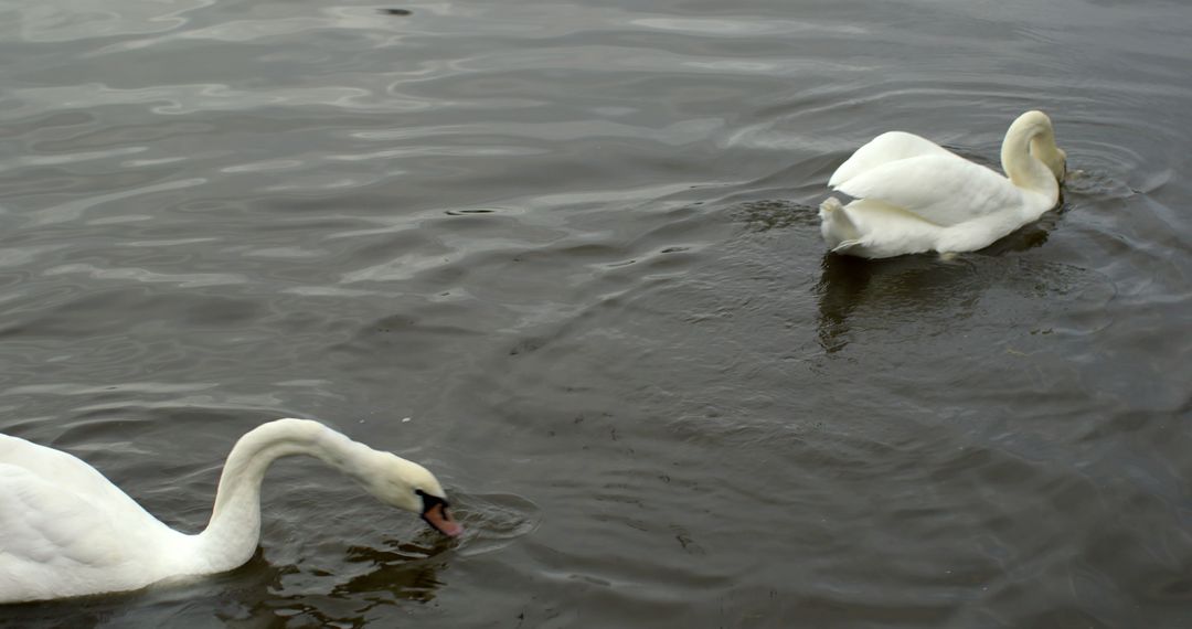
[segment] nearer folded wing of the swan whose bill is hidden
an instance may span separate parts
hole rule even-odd
[[[1008,179],[948,151],[883,163],[836,189],[880,200],[940,226],[951,226],[1022,205]]]

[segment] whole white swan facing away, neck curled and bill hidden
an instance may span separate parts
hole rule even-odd
[[[1006,131],[1010,179],[919,136],[882,133],[832,174],[827,185],[855,200],[826,199],[820,232],[833,251],[861,257],[974,251],[1055,207],[1066,161],[1038,111]]]

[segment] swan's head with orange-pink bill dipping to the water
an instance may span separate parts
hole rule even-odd
[[[429,469],[390,453],[377,453],[365,488],[378,500],[418,513],[433,529],[455,537],[464,533],[447,510],[447,492]]]

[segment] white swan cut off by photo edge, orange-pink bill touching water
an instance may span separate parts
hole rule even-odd
[[[137,590],[244,563],[260,537],[265,471],[296,454],[322,459],[445,535],[462,533],[424,467],[318,422],[278,419],[241,437],[224,463],[211,521],[197,535],[161,523],[83,461],[0,435],[0,603]]]

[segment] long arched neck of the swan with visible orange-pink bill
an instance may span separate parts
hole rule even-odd
[[[207,528],[197,536],[195,560],[212,571],[248,561],[261,536],[261,482],[273,461],[306,454],[361,480],[372,448],[317,423],[278,419],[247,432],[228,455]]]

